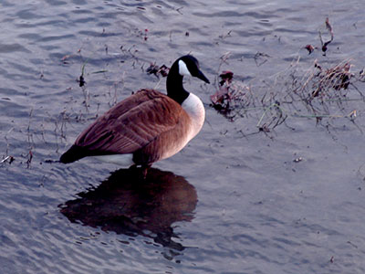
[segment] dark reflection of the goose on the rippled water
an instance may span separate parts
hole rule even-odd
[[[172,224],[191,221],[195,188],[183,176],[151,168],[145,179],[138,169],[120,169],[97,188],[78,194],[61,207],[71,222],[128,236],[151,237],[166,248],[182,251]]]

